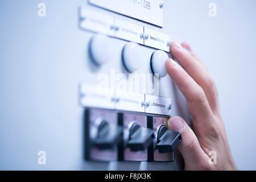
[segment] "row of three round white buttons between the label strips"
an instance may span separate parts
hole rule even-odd
[[[101,66],[112,59],[113,43],[111,38],[105,35],[97,34],[90,41],[90,55],[95,64]],[[158,50],[152,53],[151,70],[156,77],[164,77],[167,75],[165,63],[168,59],[166,52]],[[122,50],[122,62],[126,70],[130,73],[138,71],[143,63],[141,52],[139,52],[139,44],[127,43]]]

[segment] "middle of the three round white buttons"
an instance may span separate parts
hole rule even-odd
[[[123,47],[122,60],[128,72],[137,71],[141,67],[143,60],[139,44],[134,42],[126,44]]]

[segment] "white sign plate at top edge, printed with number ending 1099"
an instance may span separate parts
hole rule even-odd
[[[89,0],[105,9],[163,27],[163,0]]]

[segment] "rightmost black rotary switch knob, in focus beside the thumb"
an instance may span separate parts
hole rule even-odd
[[[168,130],[165,125],[162,125],[158,129],[157,140],[159,153],[168,153],[175,150],[175,148],[180,144],[182,137],[181,133]]]

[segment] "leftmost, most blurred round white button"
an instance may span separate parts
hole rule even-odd
[[[89,51],[94,63],[100,66],[111,59],[112,41],[108,36],[97,34],[90,42]]]

